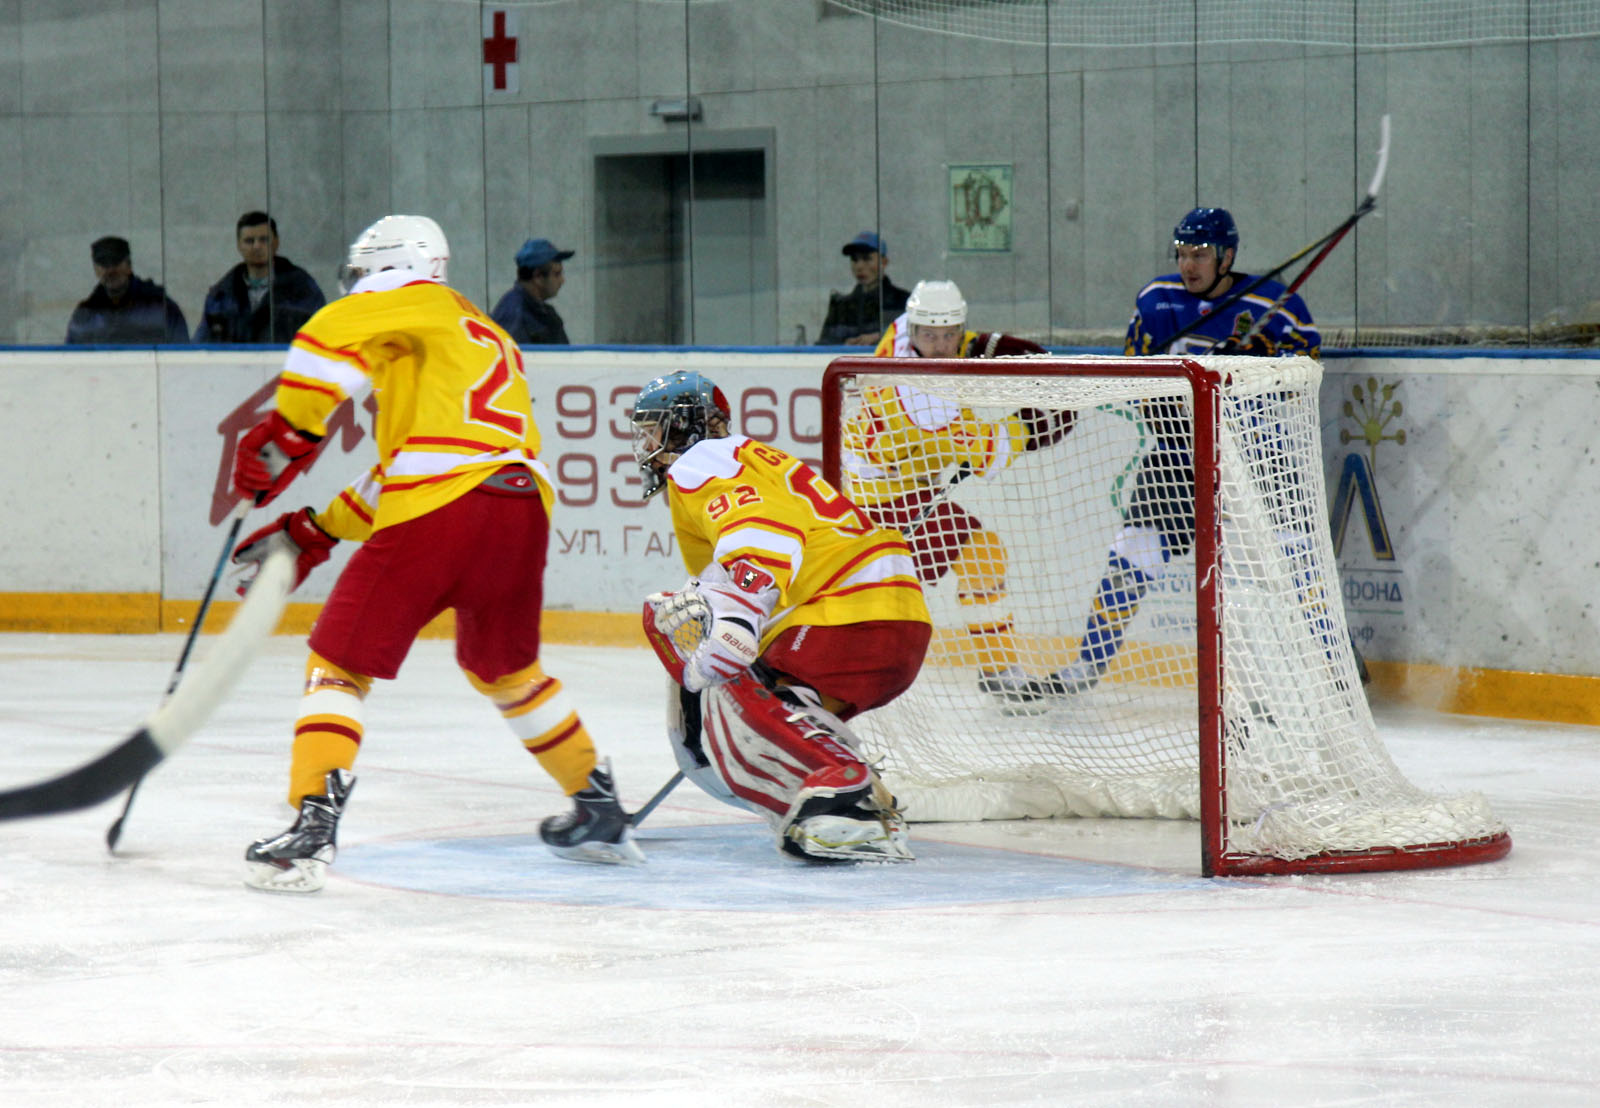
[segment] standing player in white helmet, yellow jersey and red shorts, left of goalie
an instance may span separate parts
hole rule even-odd
[[[363,546],[310,634],[294,725],[294,825],[250,845],[246,882],[315,892],[336,853],[363,701],[392,679],[418,632],[456,613],[456,660],[568,796],[544,842],[582,861],[642,861],[610,767],[539,664],[550,480],[539,461],[522,352],[445,285],[450,248],[426,216],[386,216],[350,247],[349,293],[294,336],[274,411],[243,437],[234,484],[269,503],[304,471],[339,405],[378,397],[378,464],[322,512],[302,508],[248,536],[234,560],[274,544],[298,554],[296,584],[339,540]]]

